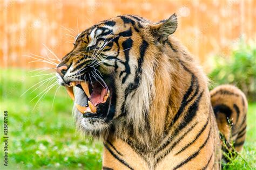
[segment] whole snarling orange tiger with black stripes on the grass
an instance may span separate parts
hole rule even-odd
[[[221,169],[224,152],[241,150],[245,95],[231,85],[210,92],[177,27],[175,13],[103,20],[58,63],[77,129],[103,142],[102,169]]]

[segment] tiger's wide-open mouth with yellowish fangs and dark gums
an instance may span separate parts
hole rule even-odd
[[[79,105],[75,103],[76,108],[83,114],[83,116],[100,116],[106,112],[109,107],[110,90],[107,90],[99,82],[89,83],[88,81],[72,81],[69,86],[65,86],[66,90],[73,101],[76,96],[73,93],[73,87],[78,87],[84,91],[87,97],[86,103]]]

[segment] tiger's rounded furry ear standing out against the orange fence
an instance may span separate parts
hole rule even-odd
[[[178,26],[176,13],[169,19],[165,19],[155,25],[150,25],[150,30],[156,41],[164,42],[167,40],[167,37],[173,34]]]

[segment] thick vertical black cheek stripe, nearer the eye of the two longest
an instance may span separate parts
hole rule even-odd
[[[125,83],[128,75],[131,74],[131,69],[129,65],[129,52],[132,47],[132,42],[133,42],[132,39],[129,38],[122,43],[122,47],[124,49],[124,55],[125,55],[125,70],[120,73],[119,77],[122,76],[123,73],[126,73],[126,75],[122,80],[122,83]]]

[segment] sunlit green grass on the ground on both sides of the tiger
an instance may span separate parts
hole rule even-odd
[[[54,102],[53,97],[57,88],[50,90],[36,107],[38,98],[33,101],[31,99],[41,93],[45,86],[32,91],[38,87],[36,86],[20,97],[33,84],[49,77],[31,77],[32,75],[35,73],[22,69],[1,70],[0,131],[2,136],[2,111],[8,110],[9,168],[100,169],[102,144],[99,141],[93,142],[89,137],[84,137],[76,131],[71,114],[73,102],[63,88],[57,91]],[[247,119],[247,139],[241,152],[241,157],[246,162],[238,157],[226,165],[225,169],[256,168],[256,103],[249,105]],[[3,143],[0,146],[2,158]],[[2,162],[2,159],[0,160]],[[1,163],[0,169],[2,167]]]

